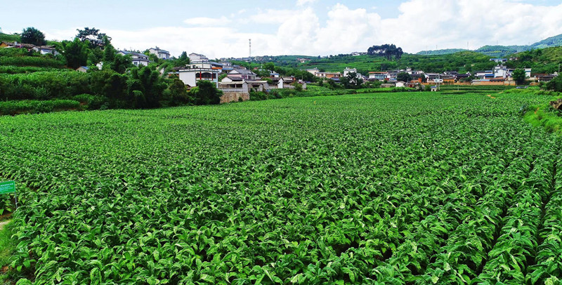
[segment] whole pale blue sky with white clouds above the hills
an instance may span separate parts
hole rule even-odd
[[[562,34],[561,0],[0,0],[4,32],[72,39],[96,27],[117,48],[209,58],[331,55],[396,44],[407,53],[528,44]]]

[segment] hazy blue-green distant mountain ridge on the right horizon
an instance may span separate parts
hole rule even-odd
[[[551,48],[555,46],[562,46],[562,34],[558,36],[549,37],[542,41],[537,41],[530,46],[482,46],[476,49],[477,53],[483,53],[492,57],[503,58],[513,53],[521,53],[522,51],[530,51],[535,48]],[[463,48],[447,48],[435,51],[420,51],[417,55],[447,55],[450,53],[457,53],[459,51],[468,51]]]

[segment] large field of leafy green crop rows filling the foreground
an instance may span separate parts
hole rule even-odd
[[[544,98],[492,97],[0,117],[16,279],[556,284],[560,139],[521,119]]]

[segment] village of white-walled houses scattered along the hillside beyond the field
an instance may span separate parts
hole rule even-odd
[[[61,53],[54,45],[34,46],[33,44],[22,44],[17,41],[0,42],[0,48],[25,48],[28,51],[35,51],[41,55],[58,56]],[[138,51],[116,51],[119,55],[127,56],[136,67],[148,66],[152,60],[149,55],[155,56],[158,60],[173,59],[169,51],[156,46],[149,48],[145,53]],[[354,52],[351,56],[365,55],[366,53]],[[242,65],[233,64],[233,62],[252,62],[273,60],[271,57],[254,57],[254,58],[221,58],[221,60],[209,60],[207,56],[199,53],[191,53],[189,63],[183,66],[173,67],[166,70],[163,67],[159,72],[167,77],[178,77],[187,90],[197,86],[198,81],[210,81],[223,92],[221,102],[232,102],[238,100],[249,100],[251,91],[270,92],[275,89],[295,89],[306,90],[307,84],[314,81],[331,81],[332,84],[341,84],[341,79],[353,78],[358,82],[375,82],[376,86],[383,88],[418,88],[426,89],[429,86],[431,91],[438,91],[440,85],[494,85],[494,86],[510,86],[516,85],[513,73],[516,69],[508,68],[504,65],[508,60],[517,60],[517,58],[491,58],[490,61],[495,62],[493,69],[476,70],[473,72],[461,73],[456,70],[447,70],[445,72],[424,72],[407,67],[405,69],[389,69],[389,70],[373,70],[368,74],[361,74],[358,69],[350,65],[344,70],[336,72],[326,72],[318,68],[306,68],[306,72],[313,75],[314,80],[305,80],[295,77],[295,74],[281,75],[273,70],[264,70],[259,67],[248,69]],[[327,58],[327,57],[323,57]],[[296,62],[311,62],[311,58],[296,58]],[[250,65],[251,66],[251,65]],[[98,69],[103,68],[103,62],[96,64]],[[80,66],[76,70],[79,72],[88,72],[90,67]],[[558,75],[554,74],[533,74],[531,68],[524,68],[525,78],[531,81],[531,84],[540,84],[546,82]],[[262,74],[258,76],[256,72]],[[264,72],[268,76],[263,76]]]

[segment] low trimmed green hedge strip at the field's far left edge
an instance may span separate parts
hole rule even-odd
[[[34,114],[80,109],[80,102],[76,100],[19,100],[0,102],[0,115]]]

